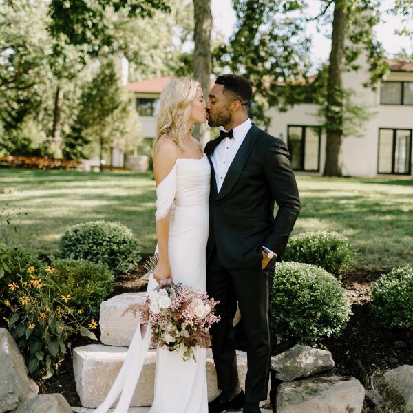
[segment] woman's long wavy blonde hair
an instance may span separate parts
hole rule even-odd
[[[200,84],[192,78],[171,80],[160,94],[160,105],[156,115],[156,139],[161,136],[173,140],[183,150],[182,138],[188,136],[187,121],[191,117],[191,103]]]

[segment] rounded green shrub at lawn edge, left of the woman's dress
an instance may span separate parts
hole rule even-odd
[[[129,273],[140,260],[138,242],[120,222],[94,221],[71,226],[60,240],[63,257],[104,263],[115,274]]]

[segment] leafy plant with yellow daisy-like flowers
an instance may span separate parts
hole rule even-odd
[[[71,305],[52,280],[54,270],[30,266],[19,273],[19,280],[8,284],[6,296],[0,295],[0,308],[8,330],[25,358],[30,374],[49,379],[65,359],[70,337],[78,332],[96,339],[85,327],[83,308]],[[96,321],[89,328],[96,328]]]

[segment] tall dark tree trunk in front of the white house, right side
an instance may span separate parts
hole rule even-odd
[[[326,163],[324,176],[341,176],[341,140],[343,137],[344,41],[346,38],[346,1],[336,0],[332,21],[332,42],[328,66],[326,107]]]

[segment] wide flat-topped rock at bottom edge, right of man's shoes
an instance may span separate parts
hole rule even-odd
[[[310,377],[277,389],[277,413],[360,413],[364,388],[352,377]]]

